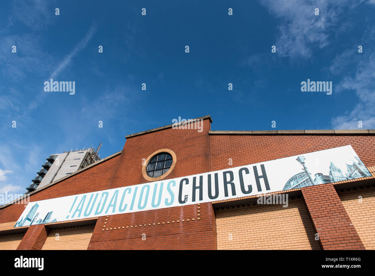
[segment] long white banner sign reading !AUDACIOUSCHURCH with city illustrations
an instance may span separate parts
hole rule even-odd
[[[230,169],[34,201],[27,205],[15,227],[241,198],[365,176],[371,173],[347,145]]]

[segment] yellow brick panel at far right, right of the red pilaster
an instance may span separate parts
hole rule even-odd
[[[375,187],[339,191],[345,207],[366,249],[375,249]],[[362,202],[359,202],[362,196]]]

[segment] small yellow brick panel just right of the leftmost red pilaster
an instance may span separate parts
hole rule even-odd
[[[95,225],[51,229],[42,250],[87,250],[94,227]]]

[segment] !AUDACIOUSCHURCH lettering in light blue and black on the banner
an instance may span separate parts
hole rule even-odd
[[[264,165],[261,165],[262,175],[258,175],[257,166],[254,166],[253,177],[250,179],[250,170],[241,167],[238,170],[225,170],[221,173],[205,173],[198,176],[187,176],[179,181],[167,180],[150,184],[133,185],[119,189],[111,189],[90,195],[75,196],[69,210],[68,219],[83,217],[104,216],[113,213],[129,213],[136,211],[152,210],[172,206],[188,205],[199,202],[214,201],[231,198],[240,194],[242,196],[252,193],[252,184],[255,182],[257,192],[269,191]],[[234,183],[239,182],[239,189]],[[260,179],[264,180],[266,189],[262,190]]]

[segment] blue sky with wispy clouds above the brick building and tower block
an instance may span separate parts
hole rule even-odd
[[[179,116],[211,115],[212,130],[375,128],[375,0],[1,5],[0,193],[24,193],[50,154],[103,142],[106,157]],[[45,92],[51,77],[75,94]],[[307,79],[332,95],[302,92]]]

